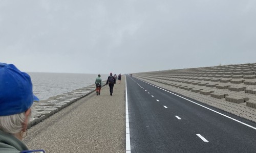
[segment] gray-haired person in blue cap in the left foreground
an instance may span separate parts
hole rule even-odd
[[[0,63],[0,152],[28,150],[22,142],[31,117],[33,94],[29,74]]]

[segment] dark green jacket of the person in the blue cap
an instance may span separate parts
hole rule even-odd
[[[0,153],[18,153],[28,147],[16,137],[0,130]]]

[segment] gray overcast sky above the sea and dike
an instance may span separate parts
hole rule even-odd
[[[0,62],[132,73],[256,62],[256,1],[0,1]]]

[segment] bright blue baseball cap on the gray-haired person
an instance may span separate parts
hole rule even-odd
[[[29,74],[13,64],[0,63],[0,116],[27,111],[39,99],[33,94]]]

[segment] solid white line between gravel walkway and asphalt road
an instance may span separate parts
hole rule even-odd
[[[127,84],[125,75],[125,117],[126,117],[126,153],[131,152],[130,143],[130,126],[129,126],[129,111],[128,111],[128,99],[127,99]]]

